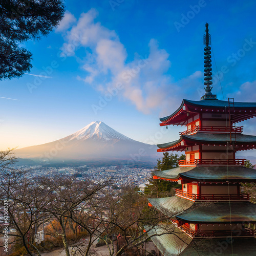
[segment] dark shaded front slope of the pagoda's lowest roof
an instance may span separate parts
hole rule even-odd
[[[255,238],[194,239],[180,254],[182,256],[252,256],[256,255]]]

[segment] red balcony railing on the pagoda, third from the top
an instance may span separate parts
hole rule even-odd
[[[193,201],[229,201],[229,200],[250,200],[250,194],[192,194],[181,189],[175,188],[175,195],[187,198]]]

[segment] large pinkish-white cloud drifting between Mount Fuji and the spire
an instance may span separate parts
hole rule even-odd
[[[170,107],[177,107],[186,93],[198,98],[195,88],[199,87],[200,79],[203,88],[202,72],[174,82],[173,77],[166,74],[171,66],[169,54],[159,49],[155,39],[148,44],[147,57],[135,54],[134,60],[127,62],[127,52],[118,35],[96,23],[97,16],[95,9],[82,13],[64,35],[66,42],[61,48],[64,55],[72,56],[78,48],[85,48],[86,56],[82,61],[87,76],[79,79],[97,84],[94,87],[102,93],[121,83],[123,90],[119,91],[118,97],[131,101],[146,114],[157,109],[161,114],[169,114]]]

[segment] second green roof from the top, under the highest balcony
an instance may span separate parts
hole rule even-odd
[[[199,141],[199,142],[205,142],[205,143],[223,143],[230,141],[230,135],[227,134],[209,134],[209,133],[195,133],[192,135],[181,135],[180,139],[164,143],[164,144],[158,144],[157,146],[159,148],[167,148],[170,146],[174,146],[177,143],[181,142],[182,140],[185,141]],[[241,142],[248,142],[248,143],[255,143],[256,144],[256,136],[253,135],[244,135],[244,134],[237,134],[236,138],[234,137],[234,134],[232,135],[232,141],[235,141],[237,144],[240,144]]]

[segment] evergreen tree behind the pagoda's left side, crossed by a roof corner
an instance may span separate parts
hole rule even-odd
[[[163,158],[157,160],[157,166],[155,172],[160,170],[173,169],[179,166],[179,160],[184,160],[185,155],[179,156],[178,154],[163,153]],[[154,180],[153,173],[152,178],[149,180],[149,184],[145,186],[144,194],[150,197],[167,197],[174,194],[174,188],[181,188],[177,182],[169,182],[164,180]]]

